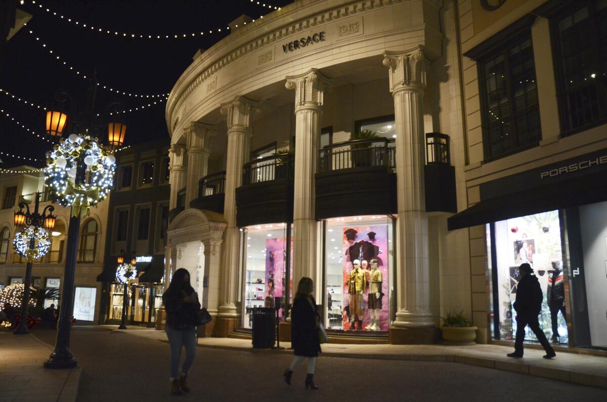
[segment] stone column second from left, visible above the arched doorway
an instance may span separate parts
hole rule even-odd
[[[192,121],[188,135],[188,175],[186,179],[186,208],[198,198],[198,180],[206,176],[211,154],[211,138],[217,134],[215,126]]]

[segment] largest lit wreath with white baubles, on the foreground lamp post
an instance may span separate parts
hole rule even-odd
[[[89,216],[114,184],[116,158],[89,135],[72,134],[47,152],[45,183],[51,199],[59,205],[73,206],[73,216]],[[81,183],[76,185],[78,163],[86,165]]]

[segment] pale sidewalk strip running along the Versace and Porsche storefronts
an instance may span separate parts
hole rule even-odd
[[[110,329],[110,325],[104,325]],[[113,326],[114,329],[117,326]],[[127,329],[124,332],[149,339],[166,341],[163,331],[154,329]],[[293,353],[293,350],[253,349],[250,339],[198,338],[198,346],[215,349],[248,350],[261,353]],[[289,342],[280,342],[289,348]],[[543,350],[525,349],[522,359],[506,356],[512,347],[497,345],[443,346],[443,345],[354,345],[325,344],[322,355],[342,358],[366,358],[386,360],[450,361],[528,373],[551,380],[594,386],[607,389],[607,358],[580,355],[577,353],[557,353],[551,360],[542,358]]]

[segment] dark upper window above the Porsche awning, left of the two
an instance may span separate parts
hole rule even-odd
[[[485,160],[537,145],[541,125],[531,33],[490,53],[478,66]]]

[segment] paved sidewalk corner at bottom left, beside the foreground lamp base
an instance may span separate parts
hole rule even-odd
[[[75,401],[81,369],[44,369],[52,351],[31,334],[0,331],[0,402]]]

